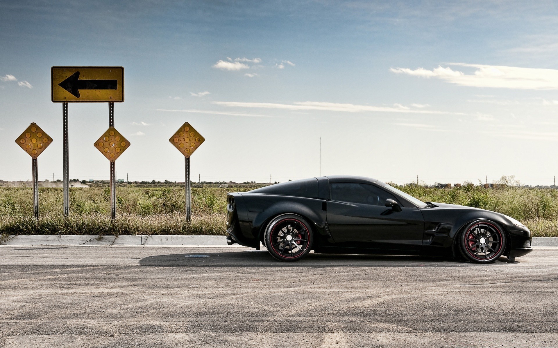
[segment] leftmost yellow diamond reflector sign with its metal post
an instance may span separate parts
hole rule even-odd
[[[52,138],[39,128],[35,122],[27,127],[17,137],[16,144],[20,145],[31,156],[31,170],[33,173],[33,215],[39,219],[39,174],[37,171],[37,157],[52,143]]]

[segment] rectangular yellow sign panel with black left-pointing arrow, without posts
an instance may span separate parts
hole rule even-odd
[[[124,68],[121,66],[53,66],[53,102],[124,101]]]

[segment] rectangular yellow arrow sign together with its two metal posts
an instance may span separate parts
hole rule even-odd
[[[113,127],[114,102],[124,101],[124,68],[121,66],[53,66],[50,68],[50,76],[50,93],[52,102],[62,102],[62,164],[64,167],[64,215],[68,216],[68,214],[70,213],[70,175],[68,169],[68,103],[108,102],[109,126]],[[114,169],[113,167],[114,163],[111,162],[111,172]],[[113,175],[111,175],[111,180],[112,179]],[[113,184],[111,184],[111,188],[112,187]],[[113,197],[111,196],[111,198]],[[114,204],[112,205],[114,207]]]

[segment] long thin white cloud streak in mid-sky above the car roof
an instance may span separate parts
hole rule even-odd
[[[302,101],[302,102],[295,102],[294,104],[276,104],[276,103],[266,103],[266,102],[213,101],[212,104],[229,106],[229,107],[259,107],[263,109],[286,109],[286,110],[321,110],[321,111],[343,111],[343,112],[377,111],[377,112],[408,112],[412,114],[466,115],[460,112],[412,110],[408,107],[407,109],[405,109],[405,107],[402,108],[402,107],[389,107],[389,106],[340,104],[334,102],[319,102],[319,101]]]

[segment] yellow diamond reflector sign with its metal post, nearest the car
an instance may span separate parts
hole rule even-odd
[[[191,180],[190,180],[190,155],[199,148],[205,141],[204,137],[198,133],[188,122],[183,124],[179,130],[169,139],[172,145],[184,155],[184,189],[186,190],[186,219],[190,222],[191,213]]]

